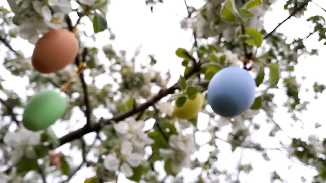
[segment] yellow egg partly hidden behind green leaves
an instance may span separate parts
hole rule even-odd
[[[198,92],[196,98],[191,100],[187,98],[185,104],[181,107],[174,106],[174,115],[180,119],[189,120],[195,117],[203,106],[203,95]]]

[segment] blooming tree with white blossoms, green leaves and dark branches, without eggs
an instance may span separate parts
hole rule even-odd
[[[163,0],[145,1],[152,12],[160,3]],[[116,51],[114,45],[97,48],[86,44],[86,38],[93,37],[92,42],[96,42],[95,35],[105,30],[109,30],[111,40],[115,38],[105,18],[109,0],[8,0],[10,9],[0,7],[0,41],[7,47],[3,66],[11,76],[24,78],[28,86],[26,97],[20,97],[17,91],[2,87],[6,78],[0,73],[3,97],[0,98],[0,182],[68,182],[83,167],[94,171],[93,177],[85,177],[88,183],[115,182],[121,176],[135,182],[184,182],[189,174],[184,170],[197,172],[192,180],[196,183],[246,182],[243,175],[249,175],[253,166],[243,163],[242,155],[237,157],[234,171],[219,165],[219,159],[227,158],[220,156],[226,148],[230,153],[249,149],[260,154],[262,161],[271,161],[269,155],[280,151],[293,163],[317,170],[313,182],[325,182],[325,139],[313,134],[307,139],[286,137],[278,124],[280,121],[274,120],[277,107],[274,96],[282,90],[287,95],[284,106],[292,120],[300,122],[300,113],[309,102],[299,98],[302,80],[293,74],[294,68],[299,57],[318,54],[317,49],[307,49],[303,41],[318,34],[318,41],[325,42],[325,19],[320,15],[308,18],[313,31],[304,38],[288,41],[287,35],[276,29],[291,17],[301,17],[314,2],[287,0],[284,9],[289,11],[289,16],[274,30],[266,32],[264,16],[274,3],[275,0],[205,0],[202,7],[195,8],[185,0],[188,16],[180,25],[182,29],[192,30],[194,44],[189,50],[176,50],[184,71],[170,85],[169,72],[162,74],[154,70],[159,58],[153,55],[139,68],[136,65],[139,50],[128,60],[126,51]],[[91,35],[80,28],[83,21],[92,22]],[[22,38],[35,45],[52,29],[75,33],[79,53],[75,63],[56,73],[41,74],[33,68],[30,58],[24,56],[24,48],[15,50],[10,43]],[[69,128],[64,136],[57,136],[52,126],[36,132],[27,130],[21,119],[28,98],[46,88],[59,91],[73,78],[80,62],[88,66],[89,72],[79,72],[79,78],[64,90],[67,108],[54,125],[83,123],[82,126]],[[250,109],[232,118],[218,116],[207,102],[209,81],[228,66],[247,70],[257,86]],[[103,75],[110,79],[102,87],[96,87],[95,81]],[[325,88],[314,83],[316,98]],[[186,99],[193,99],[198,92],[205,95],[198,115],[188,120],[176,117],[174,106],[183,106]],[[97,109],[105,109],[109,117],[96,115]],[[83,121],[72,123],[74,114],[82,115]],[[259,121],[255,120],[259,116]],[[207,122],[206,128],[198,128],[203,122]],[[253,134],[264,125],[278,146],[264,147],[255,140]],[[316,128],[320,126],[316,123]],[[85,143],[84,135],[89,133],[96,134],[92,144]],[[285,140],[278,138],[280,133],[285,134],[282,137]],[[199,143],[205,135],[209,136],[208,140]],[[73,163],[76,155],[57,150],[67,143],[71,152],[75,147],[82,152],[81,164]],[[204,146],[210,150],[202,160],[199,152]],[[156,164],[164,168],[156,168]],[[270,176],[271,182],[287,181],[275,170]],[[305,175],[297,176],[302,182],[307,181]]]

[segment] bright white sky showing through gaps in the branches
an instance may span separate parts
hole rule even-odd
[[[203,5],[203,0],[187,0],[189,6],[200,7]],[[319,6],[326,8],[325,0],[314,0]],[[7,2],[2,0],[1,5],[8,7]],[[265,29],[270,32],[278,24],[283,21],[287,16],[288,12],[283,9],[284,1],[279,0],[274,4],[272,12],[268,12],[265,16]],[[283,32],[289,37],[289,40],[293,40],[296,37],[305,37],[312,31],[310,23],[305,20],[313,15],[322,15],[326,17],[326,13],[314,4],[309,4],[308,11],[305,12],[305,16],[301,19],[291,18],[289,21],[284,23],[277,29],[277,32]],[[107,43],[111,43],[113,48],[116,50],[125,49],[127,51],[128,58],[131,58],[137,47],[141,45],[141,52],[137,58],[137,62],[148,62],[148,55],[154,54],[158,61],[155,65],[155,69],[165,73],[168,69],[171,71],[172,79],[170,84],[174,84],[179,74],[184,72],[184,67],[181,65],[182,60],[175,55],[175,50],[179,47],[190,49],[192,46],[191,30],[182,30],[180,28],[180,21],[187,16],[185,4],[183,0],[165,0],[163,4],[154,6],[154,13],[150,12],[150,8],[145,6],[145,0],[111,0],[108,11],[108,25],[112,29],[112,32],[116,35],[114,41],[109,40],[108,31],[97,34],[96,46],[101,48]],[[85,23],[86,27],[90,27],[92,31],[92,24],[83,18],[82,22]],[[81,25],[81,27],[83,27]],[[312,91],[312,85],[314,81],[326,84],[326,46],[323,46],[322,42],[317,42],[318,35],[314,34],[309,37],[304,43],[308,49],[318,48],[320,50],[319,56],[309,56],[306,58],[301,57],[299,64],[295,66],[295,73],[298,76],[306,76],[307,79],[302,82],[300,77],[299,82],[302,82],[302,92],[300,92],[300,98],[302,101],[309,101],[310,105],[307,107],[308,111],[303,112],[300,117],[304,122],[293,123],[287,114],[287,109],[282,107],[283,102],[286,100],[284,90],[275,91],[276,95],[274,101],[278,104],[278,108],[274,114],[274,120],[281,126],[281,128],[289,134],[290,137],[302,137],[305,139],[309,134],[318,134],[321,138],[325,138],[325,128],[321,127],[318,130],[314,128],[315,123],[325,124],[325,100],[326,95],[323,94],[318,100],[313,98],[314,94]],[[23,49],[26,56],[32,54],[33,47],[22,39],[16,39],[12,41],[13,48]],[[6,51],[3,45],[0,45],[0,55]],[[2,58],[0,62],[2,62]],[[7,75],[3,71],[1,66],[1,75]],[[85,71],[87,72],[87,71]],[[19,77],[5,77],[7,79],[3,86],[7,89],[14,91],[21,90],[19,92],[23,98],[25,98],[25,86],[24,85],[13,85],[12,83],[26,83]],[[90,83],[90,82],[89,82]],[[281,83],[281,82],[280,82]],[[279,84],[280,84],[279,83]],[[281,84],[279,85],[281,86]],[[304,89],[309,88],[309,92],[305,92]],[[3,97],[0,93],[0,97]],[[109,117],[105,110],[95,111],[96,115]],[[207,118],[201,116],[199,120],[199,128],[204,129],[207,125]],[[78,129],[83,126],[84,119],[79,114],[73,115],[71,122],[75,123],[75,120],[80,119],[82,122],[78,123],[74,129]],[[268,136],[269,130],[272,125],[266,124],[264,121],[264,114],[261,112],[254,120],[256,123],[261,124],[261,129],[253,135],[253,141],[259,142],[263,147],[279,147],[278,140],[282,139],[284,143],[289,143],[286,135],[282,132],[278,132],[276,137],[271,138]],[[290,124],[293,123],[293,127]],[[303,129],[301,129],[303,126]],[[56,124],[53,129],[59,137],[68,133],[65,129],[67,125],[65,123]],[[226,133],[219,134],[220,137],[226,139]],[[91,144],[94,138],[94,134],[88,134],[84,136],[87,144]],[[70,145],[66,144],[56,150],[62,150],[68,152]],[[240,149],[237,149],[234,153],[231,153],[231,148],[228,144],[222,141],[218,141],[218,147],[221,153],[218,156],[218,163],[221,167],[227,167],[231,172],[234,171],[239,155]],[[206,148],[200,149],[202,157],[207,152]],[[73,151],[74,164],[79,165],[82,161],[81,153]],[[286,157],[285,152],[273,151],[269,153],[271,158],[270,162],[265,162],[262,159],[260,153],[255,153],[252,150],[244,151],[243,163],[251,162],[254,170],[249,174],[248,177],[241,175],[241,178],[247,179],[250,183],[261,183],[270,181],[270,172],[274,169],[282,177],[286,178],[290,183],[300,182],[300,176],[303,175],[308,182],[310,178],[317,172],[295,163],[291,165]],[[293,160],[294,161],[294,160]],[[161,164],[162,165],[162,164]],[[193,180],[193,173],[188,174],[185,177],[185,182]],[[81,169],[76,176],[74,176],[70,182],[83,182],[85,178],[91,177],[94,172],[90,168]],[[164,176],[164,175],[162,175]],[[48,177],[48,182],[52,182],[52,178]],[[125,178],[121,177],[120,182],[126,182]]]

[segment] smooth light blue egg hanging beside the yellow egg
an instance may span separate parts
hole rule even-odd
[[[248,71],[226,67],[218,71],[208,84],[208,103],[220,116],[238,116],[255,100],[256,83]]]

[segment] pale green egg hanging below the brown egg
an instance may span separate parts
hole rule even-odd
[[[55,90],[37,93],[27,102],[22,116],[26,129],[45,130],[62,117],[66,110],[66,99]]]

